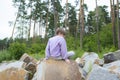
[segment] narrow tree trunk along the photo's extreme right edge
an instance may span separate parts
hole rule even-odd
[[[118,26],[118,49],[120,49],[119,0],[117,0],[117,26]]]

